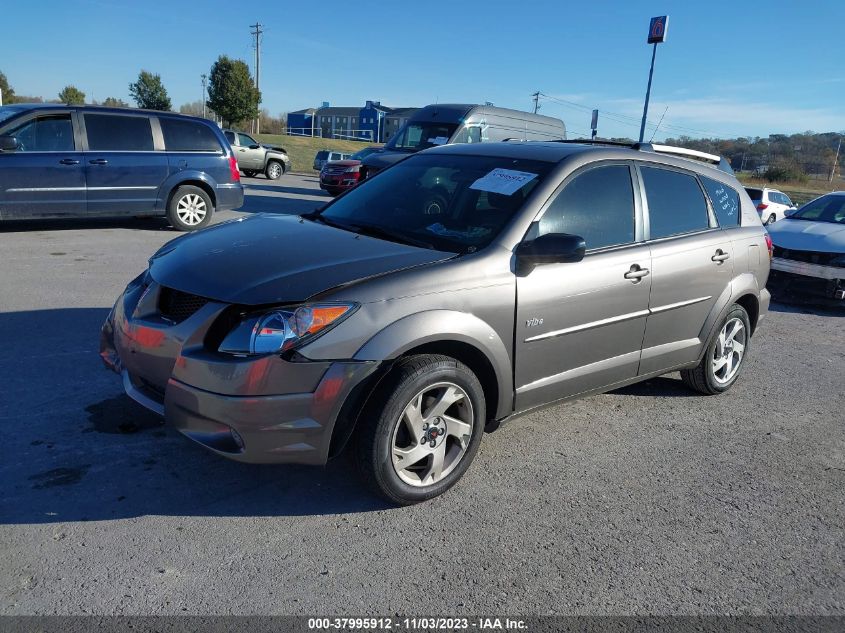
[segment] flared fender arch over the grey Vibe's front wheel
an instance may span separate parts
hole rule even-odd
[[[456,310],[428,310],[394,321],[355,353],[355,360],[385,361],[428,343],[459,342],[480,351],[498,383],[495,417],[513,412],[513,370],[508,348],[496,331],[477,316]],[[488,412],[494,413],[494,412]]]

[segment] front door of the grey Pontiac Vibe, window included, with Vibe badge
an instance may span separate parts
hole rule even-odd
[[[576,172],[526,237],[580,235],[587,254],[517,278],[518,411],[637,375],[651,263],[631,169],[606,163]]]

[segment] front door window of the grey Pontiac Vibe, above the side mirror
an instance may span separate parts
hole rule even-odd
[[[590,169],[570,181],[540,218],[538,235],[580,235],[588,249],[635,240],[634,188],[626,165]]]

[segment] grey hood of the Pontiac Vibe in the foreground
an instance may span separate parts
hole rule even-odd
[[[304,301],[331,288],[454,257],[357,235],[291,215],[255,215],[165,244],[150,275],[175,288],[243,305]]]

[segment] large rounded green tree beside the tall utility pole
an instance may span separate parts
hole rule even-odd
[[[258,116],[261,93],[240,59],[221,55],[211,67],[206,104],[223,118],[227,126]]]

